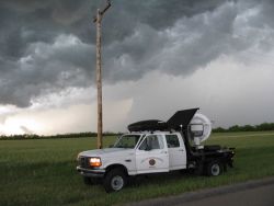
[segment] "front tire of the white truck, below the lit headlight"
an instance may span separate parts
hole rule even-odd
[[[126,185],[126,182],[127,178],[124,170],[119,168],[113,169],[104,178],[105,192],[118,192]]]

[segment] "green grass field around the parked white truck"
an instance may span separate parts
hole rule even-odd
[[[105,145],[113,141],[105,137]],[[84,185],[75,170],[78,152],[94,148],[95,138],[2,140],[0,205],[119,205],[274,175],[274,131],[216,134],[208,144],[236,147],[235,168],[217,178],[152,176],[106,194]]]

